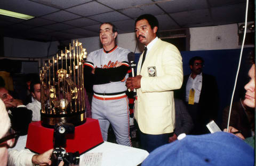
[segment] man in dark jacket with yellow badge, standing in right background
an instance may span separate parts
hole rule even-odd
[[[191,134],[206,134],[206,124],[218,117],[218,86],[215,77],[202,73],[204,59],[195,56],[189,60],[191,74],[185,75],[181,87],[182,100],[195,124]]]

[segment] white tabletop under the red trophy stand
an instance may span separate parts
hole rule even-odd
[[[18,139],[17,145],[12,149],[22,150],[25,148],[27,142],[27,136],[21,136]],[[32,153],[32,152],[31,152]],[[80,166],[87,166],[83,164],[85,155],[97,155],[102,154],[101,164],[102,166],[133,166],[140,164],[148,156],[148,152],[139,148],[118,145],[110,142],[104,142],[101,145],[93,148],[92,150],[82,154],[80,156]],[[96,166],[97,164],[95,164]],[[93,164],[91,164],[93,166]]]

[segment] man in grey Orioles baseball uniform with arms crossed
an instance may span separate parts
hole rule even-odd
[[[109,124],[114,129],[116,142],[131,146],[129,135],[129,101],[125,86],[129,63],[129,50],[115,43],[115,25],[100,25],[103,48],[89,54],[84,63],[85,80],[93,81],[92,118],[98,119],[104,141],[108,138]]]

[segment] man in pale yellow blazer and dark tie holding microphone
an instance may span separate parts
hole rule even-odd
[[[158,39],[157,29],[153,15],[144,14],[135,21],[136,37],[146,47],[138,62],[137,76],[126,81],[127,89],[137,89],[134,117],[141,131],[141,147],[148,152],[168,143],[173,133],[173,90],[180,89],[183,81],[180,52]]]

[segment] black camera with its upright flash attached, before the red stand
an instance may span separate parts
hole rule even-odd
[[[68,123],[59,123],[54,127],[54,149],[51,155],[51,161],[53,166],[58,166],[61,161],[64,162],[64,166],[78,166],[79,165],[79,152],[74,153],[66,152],[66,135],[73,134],[75,132],[75,126]]]

